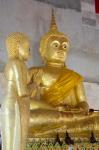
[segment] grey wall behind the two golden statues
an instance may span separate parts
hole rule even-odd
[[[31,40],[28,66],[42,65],[40,38],[48,31],[52,6],[34,0],[0,0],[0,102],[2,72],[7,63],[5,39],[11,32],[24,32]],[[71,47],[67,66],[85,77],[85,88],[91,107],[99,109],[99,30],[82,25],[81,12],[55,8],[58,28],[69,36]]]

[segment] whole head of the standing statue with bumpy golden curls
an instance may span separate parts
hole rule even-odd
[[[18,58],[25,61],[30,55],[29,38],[23,33],[10,34],[6,39],[6,47],[10,59]]]

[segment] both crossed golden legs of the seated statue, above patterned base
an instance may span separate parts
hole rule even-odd
[[[51,137],[56,132],[70,132],[88,136],[98,130],[99,113],[77,115],[52,110],[32,110],[30,113],[29,137]]]

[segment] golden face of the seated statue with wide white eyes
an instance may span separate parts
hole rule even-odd
[[[45,59],[52,63],[64,63],[67,58],[69,42],[65,37],[51,37],[45,51]]]

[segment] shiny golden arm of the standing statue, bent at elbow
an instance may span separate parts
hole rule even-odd
[[[14,77],[16,82],[16,88],[19,97],[24,97],[28,95],[28,90],[25,81],[23,80],[24,70],[21,69],[21,64],[19,60],[15,60],[13,65]]]

